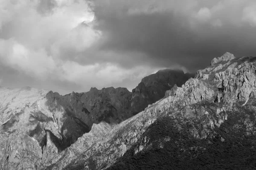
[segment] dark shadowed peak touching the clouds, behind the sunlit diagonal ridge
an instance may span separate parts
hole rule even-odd
[[[131,108],[134,114],[144,110],[148,105],[162,99],[165,92],[174,85],[181,87],[186,80],[193,77],[183,71],[160,70],[144,77],[140,84],[132,90]]]

